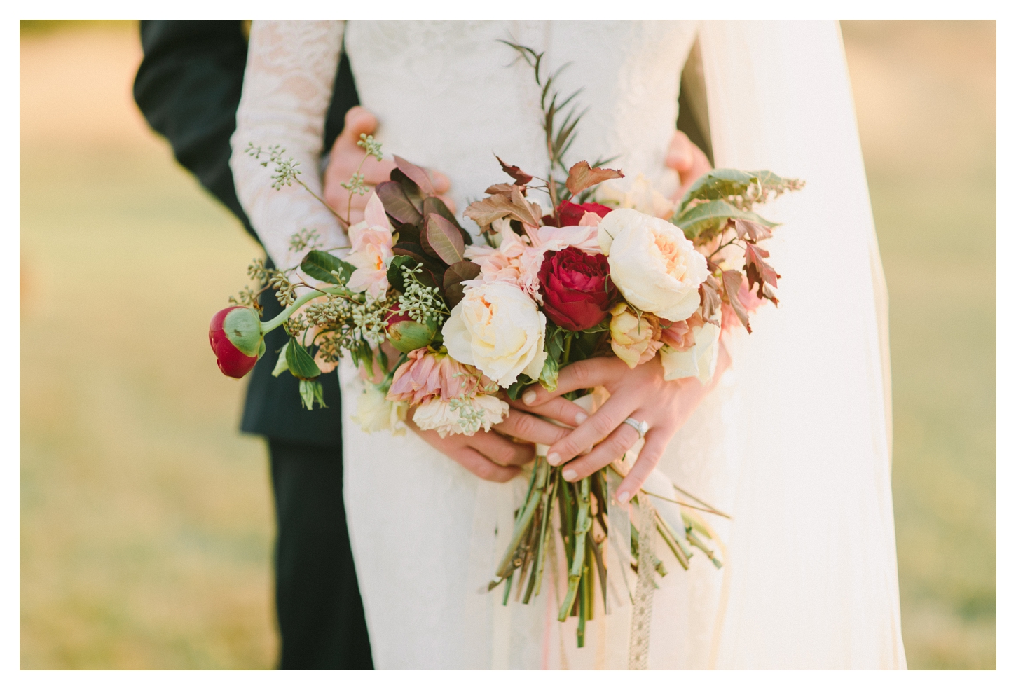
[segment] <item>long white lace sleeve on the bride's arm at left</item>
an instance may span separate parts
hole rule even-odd
[[[299,263],[304,252],[292,251],[290,238],[301,229],[317,230],[325,247],[346,244],[345,234],[300,185],[273,189],[271,165],[262,167],[245,149],[249,143],[281,145],[285,156],[300,164],[301,179],[321,195],[318,162],[343,23],[254,21],[251,26],[230,166],[240,203],[279,268]]]

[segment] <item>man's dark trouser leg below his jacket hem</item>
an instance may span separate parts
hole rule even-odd
[[[342,503],[341,451],[268,439],[281,669],[373,669]]]

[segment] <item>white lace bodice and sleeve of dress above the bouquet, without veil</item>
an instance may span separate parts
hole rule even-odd
[[[546,51],[548,70],[570,63],[558,85],[565,95],[582,88],[575,103],[588,111],[568,161],[618,155],[612,165],[671,191],[677,180],[663,158],[695,29],[680,21],[254,22],[233,137],[240,200],[278,265],[296,263],[289,237],[304,227],[317,229],[328,246],[343,244],[310,194],[271,189],[268,172],[244,154],[249,142],[281,144],[319,190],[323,122],[343,39],[385,152],[447,175],[459,211],[504,179],[495,154],[537,175],[548,167],[539,87],[499,40]]]

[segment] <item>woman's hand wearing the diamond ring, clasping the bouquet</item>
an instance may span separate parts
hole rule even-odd
[[[645,445],[639,451],[638,460],[618,487],[616,498],[624,503],[639,490],[659,462],[674,434],[716,385],[729,364],[726,348],[720,344],[712,380],[708,385],[702,385],[697,378],[664,381],[663,366],[658,357],[634,369],[629,369],[616,357],[597,357],[562,369],[558,376],[558,388],[554,392],[534,384],[523,393],[522,400],[529,409],[536,409],[572,390],[604,386],[611,392],[610,399],[592,417],[560,441],[551,444],[547,459],[553,465],[564,464],[562,476],[569,482],[588,477],[607,466],[635,444],[638,431],[631,425],[623,424],[625,419],[631,417],[637,422],[648,423],[649,431],[645,434]],[[594,447],[589,453],[576,458],[590,446]]]

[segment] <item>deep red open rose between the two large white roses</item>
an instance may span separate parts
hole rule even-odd
[[[590,256],[575,247],[549,252],[538,273],[547,316],[568,330],[602,321],[617,297],[610,272],[602,254]]]

